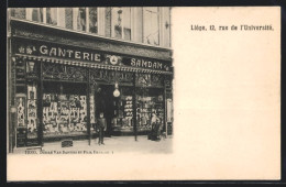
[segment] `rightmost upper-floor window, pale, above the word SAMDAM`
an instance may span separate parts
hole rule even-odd
[[[143,8],[143,20],[144,43],[158,45],[158,8]]]

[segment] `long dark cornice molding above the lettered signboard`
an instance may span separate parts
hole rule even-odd
[[[62,31],[57,28],[46,28],[43,25],[31,25],[32,23],[21,22],[29,26],[15,24],[12,28],[12,36],[25,37],[32,40],[40,40],[45,42],[53,42],[65,45],[73,45],[79,47],[87,47],[102,52],[120,53],[132,56],[141,56],[148,58],[156,58],[163,61],[172,61],[172,51],[160,47],[140,46],[135,44],[122,43],[113,41],[112,38],[97,38],[91,40],[90,35],[84,33],[70,33]],[[12,24],[13,25],[13,24]],[[20,28],[21,26],[21,28]],[[40,33],[41,32],[41,33]],[[80,37],[80,40],[78,40]]]

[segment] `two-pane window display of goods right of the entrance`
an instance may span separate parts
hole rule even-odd
[[[152,117],[156,116],[156,123],[164,125],[164,98],[162,89],[140,88],[136,92],[136,103],[133,103],[132,88],[121,88],[122,96],[114,103],[117,110],[112,120],[113,132],[133,132],[133,105],[136,106],[136,130],[148,132],[152,130]]]

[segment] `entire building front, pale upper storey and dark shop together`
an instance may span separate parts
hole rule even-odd
[[[170,8],[8,10],[9,152],[66,138],[173,134]]]

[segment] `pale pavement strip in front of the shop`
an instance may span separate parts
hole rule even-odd
[[[148,153],[169,154],[172,153],[172,136],[161,141],[147,140],[146,135],[134,136],[111,136],[105,138],[105,145],[98,145],[98,139],[92,139],[89,145],[88,140],[74,140],[73,146],[62,147],[62,141],[46,142],[41,147],[14,148],[12,154],[117,154],[117,153]]]

